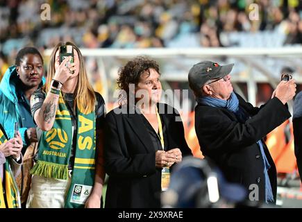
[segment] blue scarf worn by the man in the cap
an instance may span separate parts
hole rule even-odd
[[[245,123],[245,121],[249,118],[249,114],[245,113],[244,110],[240,107],[237,96],[234,92],[230,94],[230,98],[228,100],[224,99],[216,99],[209,96],[202,96],[196,99],[197,103],[202,105],[208,105],[217,108],[226,108],[235,114],[238,121],[241,123]],[[265,155],[265,150],[263,148],[263,144],[261,140],[257,142],[260,152],[263,158],[263,162],[265,164],[264,174],[265,174],[265,202],[271,203],[274,202],[273,191],[271,189],[271,181],[269,180],[269,174],[267,173],[268,169],[271,167],[267,157]]]

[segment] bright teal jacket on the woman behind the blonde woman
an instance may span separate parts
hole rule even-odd
[[[15,122],[22,126],[22,119],[19,114],[18,99],[16,94],[15,85],[10,81],[12,76],[17,76],[16,66],[13,65],[6,70],[1,83],[0,83],[0,123],[6,130],[8,138],[14,137],[14,125]],[[45,78],[43,76],[42,83],[45,83]],[[23,145],[27,147],[25,132],[27,128],[19,128],[19,133],[21,134]]]

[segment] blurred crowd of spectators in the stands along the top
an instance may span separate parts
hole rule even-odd
[[[42,3],[51,6],[50,20],[40,17]],[[255,10],[251,3],[258,6],[258,19],[249,17]],[[241,46],[223,34],[261,31],[285,36],[275,37],[273,45],[301,44],[301,16],[298,0],[1,1],[0,49],[10,60],[12,49],[51,48],[66,41],[66,33],[69,41],[87,48],[190,46],[192,36],[200,39],[191,46]],[[178,44],[170,44],[174,40]]]

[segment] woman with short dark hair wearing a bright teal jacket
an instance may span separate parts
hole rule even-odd
[[[37,142],[30,98],[38,87],[42,87],[43,74],[43,58],[40,52],[34,47],[25,47],[17,52],[15,65],[6,70],[0,83],[0,123],[6,129],[8,138],[12,138],[14,124],[17,122],[23,141],[24,166],[17,180],[22,193],[22,204],[26,203],[29,191],[31,175],[28,171],[32,167],[31,158]]]

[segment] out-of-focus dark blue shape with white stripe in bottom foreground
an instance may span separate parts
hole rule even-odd
[[[208,158],[184,157],[161,199],[164,208],[235,208],[246,207],[246,195],[242,185],[228,182]]]

